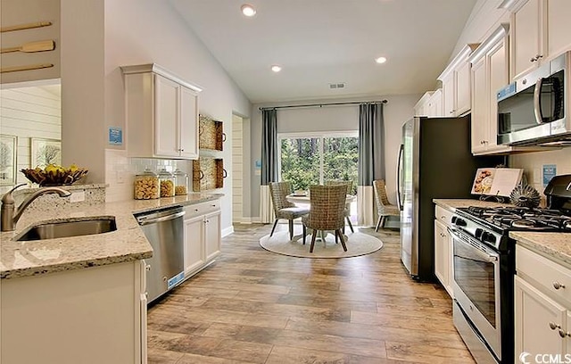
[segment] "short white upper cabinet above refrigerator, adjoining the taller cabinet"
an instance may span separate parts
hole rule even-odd
[[[466,45],[443,70],[443,116],[459,116],[470,110],[470,64],[468,56],[477,44]]]

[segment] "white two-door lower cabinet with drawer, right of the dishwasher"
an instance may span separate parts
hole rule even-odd
[[[196,203],[185,211],[185,277],[190,277],[220,253],[220,203]]]

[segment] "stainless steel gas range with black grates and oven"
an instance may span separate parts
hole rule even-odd
[[[510,231],[571,233],[571,175],[550,180],[547,209],[456,209],[452,239],[453,318],[476,362],[513,363],[515,240]]]

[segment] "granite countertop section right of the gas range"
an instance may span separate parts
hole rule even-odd
[[[517,244],[571,269],[571,234],[511,231]]]

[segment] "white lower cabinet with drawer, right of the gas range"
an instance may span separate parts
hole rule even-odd
[[[516,247],[515,355],[560,355],[571,350],[571,269]],[[559,287],[559,288],[558,288]]]

